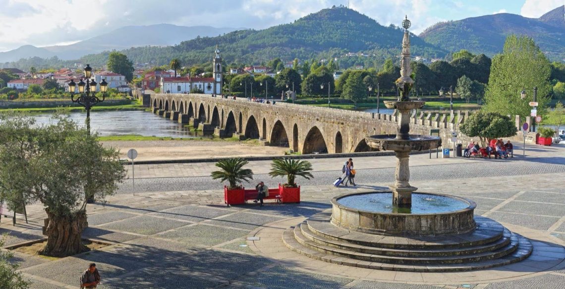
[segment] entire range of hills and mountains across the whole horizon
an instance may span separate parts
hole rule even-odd
[[[492,56],[502,51],[506,36],[514,33],[533,37],[551,60],[560,61],[565,59],[564,11],[565,6],[561,6],[537,19],[502,13],[437,23],[419,36],[412,35],[412,54],[442,58],[467,49]],[[21,46],[0,53],[0,63],[56,56],[102,66],[110,50],[121,50],[134,63],[161,65],[180,58],[184,65],[193,65],[210,62],[216,45],[228,63],[261,63],[276,57],[330,59],[359,51],[386,58],[398,55],[401,41],[401,28],[380,25],[341,6],[262,30],[170,24],[128,26],[72,45]]]

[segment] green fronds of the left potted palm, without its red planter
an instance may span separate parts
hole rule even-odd
[[[212,171],[210,176],[215,180],[220,179],[220,182],[228,181],[229,189],[237,189],[238,182],[249,182],[253,179],[253,171],[242,169],[247,163],[249,162],[242,158],[221,159],[216,163],[221,170]]]

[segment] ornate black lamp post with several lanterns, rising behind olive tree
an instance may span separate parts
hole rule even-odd
[[[102,79],[100,83],[100,92],[102,92],[102,99],[100,99],[95,96],[97,83],[94,80],[90,80],[90,77],[92,77],[92,67],[90,67],[90,64],[86,64],[86,67],[84,68],[84,76],[86,83],[82,81],[82,79],[78,84],[76,84],[75,81],[71,80],[68,85],[72,102],[79,103],[80,105],[84,106],[84,109],[86,109],[86,130],[90,134],[90,109],[97,103],[105,100],[108,84],[106,83],[105,79]],[[75,98],[75,89],[77,86],[79,87],[79,95]]]

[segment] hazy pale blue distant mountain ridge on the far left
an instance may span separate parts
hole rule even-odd
[[[71,45],[45,47],[24,45],[18,49],[0,52],[0,63],[29,57],[51,58],[56,56],[62,60],[79,59],[84,55],[101,53],[106,50],[123,50],[137,46],[170,46],[198,36],[218,36],[235,30],[237,29],[210,26],[186,27],[172,24],[125,26]]]

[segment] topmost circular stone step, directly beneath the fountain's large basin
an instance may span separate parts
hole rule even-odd
[[[391,249],[446,249],[486,245],[503,237],[504,226],[485,217],[475,216],[477,228],[473,232],[442,236],[384,236],[350,231],[334,226],[331,212],[321,212],[306,220],[308,229],[325,239],[346,241],[373,248]]]

